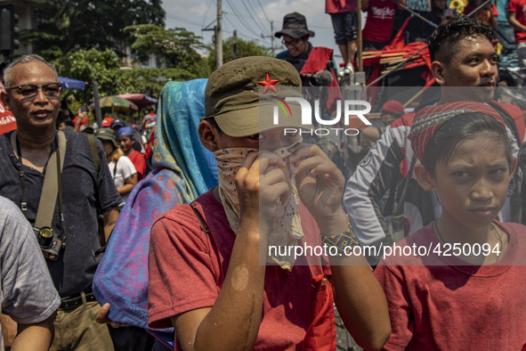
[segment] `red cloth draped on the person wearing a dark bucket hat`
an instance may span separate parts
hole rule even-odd
[[[303,65],[301,74],[313,74],[319,70],[327,68],[328,61],[332,61],[333,50],[328,47],[318,46],[313,47],[309,58]],[[331,71],[332,83],[329,86],[332,88],[328,89],[328,100],[327,110],[332,113],[336,110],[336,102],[342,100],[342,93],[340,92],[340,86],[338,86],[338,80],[336,79],[335,72]]]

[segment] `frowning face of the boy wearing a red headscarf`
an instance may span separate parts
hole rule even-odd
[[[458,143],[449,163],[438,161],[431,178],[442,217],[473,229],[490,224],[504,205],[515,165],[510,170],[504,145],[490,138]]]

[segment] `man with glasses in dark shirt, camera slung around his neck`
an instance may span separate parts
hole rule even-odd
[[[53,314],[51,349],[112,350],[108,327],[94,322],[101,307],[91,290],[101,259],[95,203],[97,199],[101,202],[108,240],[120,202],[101,143],[96,142],[100,162],[96,175],[87,136],[61,134],[55,129],[61,84],[53,65],[42,57],[31,54],[13,61],[4,70],[4,86],[2,102],[12,111],[18,128],[0,135],[0,195],[17,204],[33,225],[61,296],[61,306]],[[49,191],[52,186],[47,184],[58,189]],[[45,244],[47,227],[40,225],[39,215],[49,206],[54,210],[53,219],[49,218],[51,232],[47,233],[52,233],[53,239],[52,244]],[[53,247],[56,238],[64,244]],[[50,247],[56,249],[53,255],[45,251]]]

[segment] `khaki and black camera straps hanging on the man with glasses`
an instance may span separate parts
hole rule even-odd
[[[22,165],[22,154],[20,150],[20,143],[16,135],[14,137],[16,140],[16,148],[20,158],[20,185],[22,189],[22,207],[24,206],[24,171]],[[58,141],[58,143],[57,143]],[[42,186],[42,192],[40,194],[40,201],[38,202],[38,209],[36,211],[36,220],[34,226],[36,228],[52,228],[53,224],[53,213],[55,210],[55,205],[57,201],[57,195],[59,199],[59,211],[60,211],[60,221],[61,221],[61,240],[64,242],[64,216],[62,212],[62,184],[61,184],[61,174],[62,167],[64,166],[64,158],[61,155],[66,154],[66,135],[61,131],[57,132],[55,140],[52,143],[52,151],[49,159],[47,160],[47,167],[45,169],[45,178],[44,184]]]

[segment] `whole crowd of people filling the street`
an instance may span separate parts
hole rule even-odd
[[[438,16],[443,2],[433,6]],[[388,43],[397,7],[362,3],[364,45]],[[350,74],[354,4],[327,9]],[[409,114],[385,102],[347,179],[300,132],[312,126],[294,98],[312,53],[326,53],[298,12],[276,33],[286,52],[167,83],[141,127],[65,116],[53,65],[12,61],[1,98],[17,129],[0,135],[6,345],[335,350],[336,306],[368,350],[526,347],[526,127],[521,109],[494,100],[494,27],[480,17],[429,33],[440,101]],[[277,110],[287,98],[289,113]],[[397,246],[403,255],[385,256]]]

